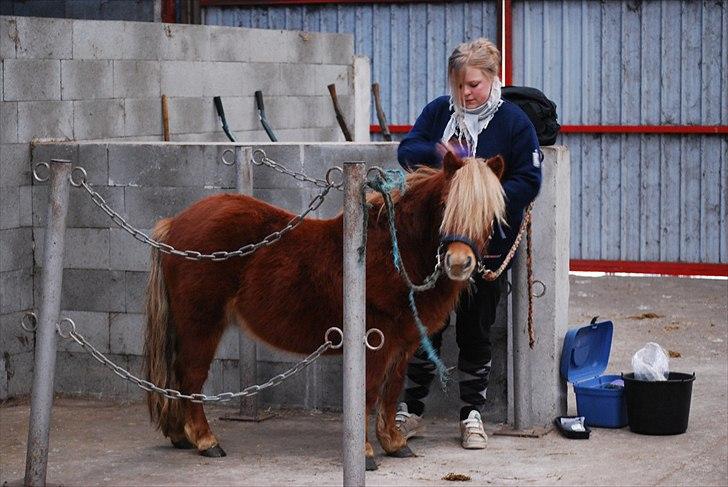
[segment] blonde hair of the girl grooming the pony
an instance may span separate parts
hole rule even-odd
[[[458,45],[447,60],[447,76],[453,98],[461,101],[460,85],[466,67],[479,69],[492,80],[500,72],[500,63],[500,51],[493,42],[484,37]]]

